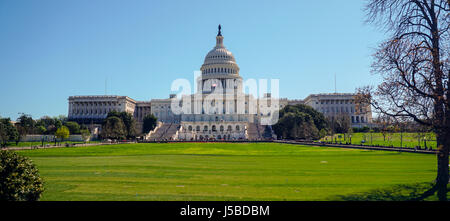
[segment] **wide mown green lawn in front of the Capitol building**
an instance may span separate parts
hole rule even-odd
[[[434,155],[277,143],[18,152],[40,170],[41,200],[403,200],[436,174]]]

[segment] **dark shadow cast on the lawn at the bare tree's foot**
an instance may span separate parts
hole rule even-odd
[[[449,193],[447,193],[448,195]],[[438,200],[434,183],[396,185],[390,188],[375,189],[368,192],[338,195],[344,201],[423,201]],[[448,197],[447,197],[448,198]]]

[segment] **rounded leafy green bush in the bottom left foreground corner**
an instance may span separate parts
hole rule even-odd
[[[14,151],[0,151],[0,201],[36,201],[44,191],[31,160]]]

